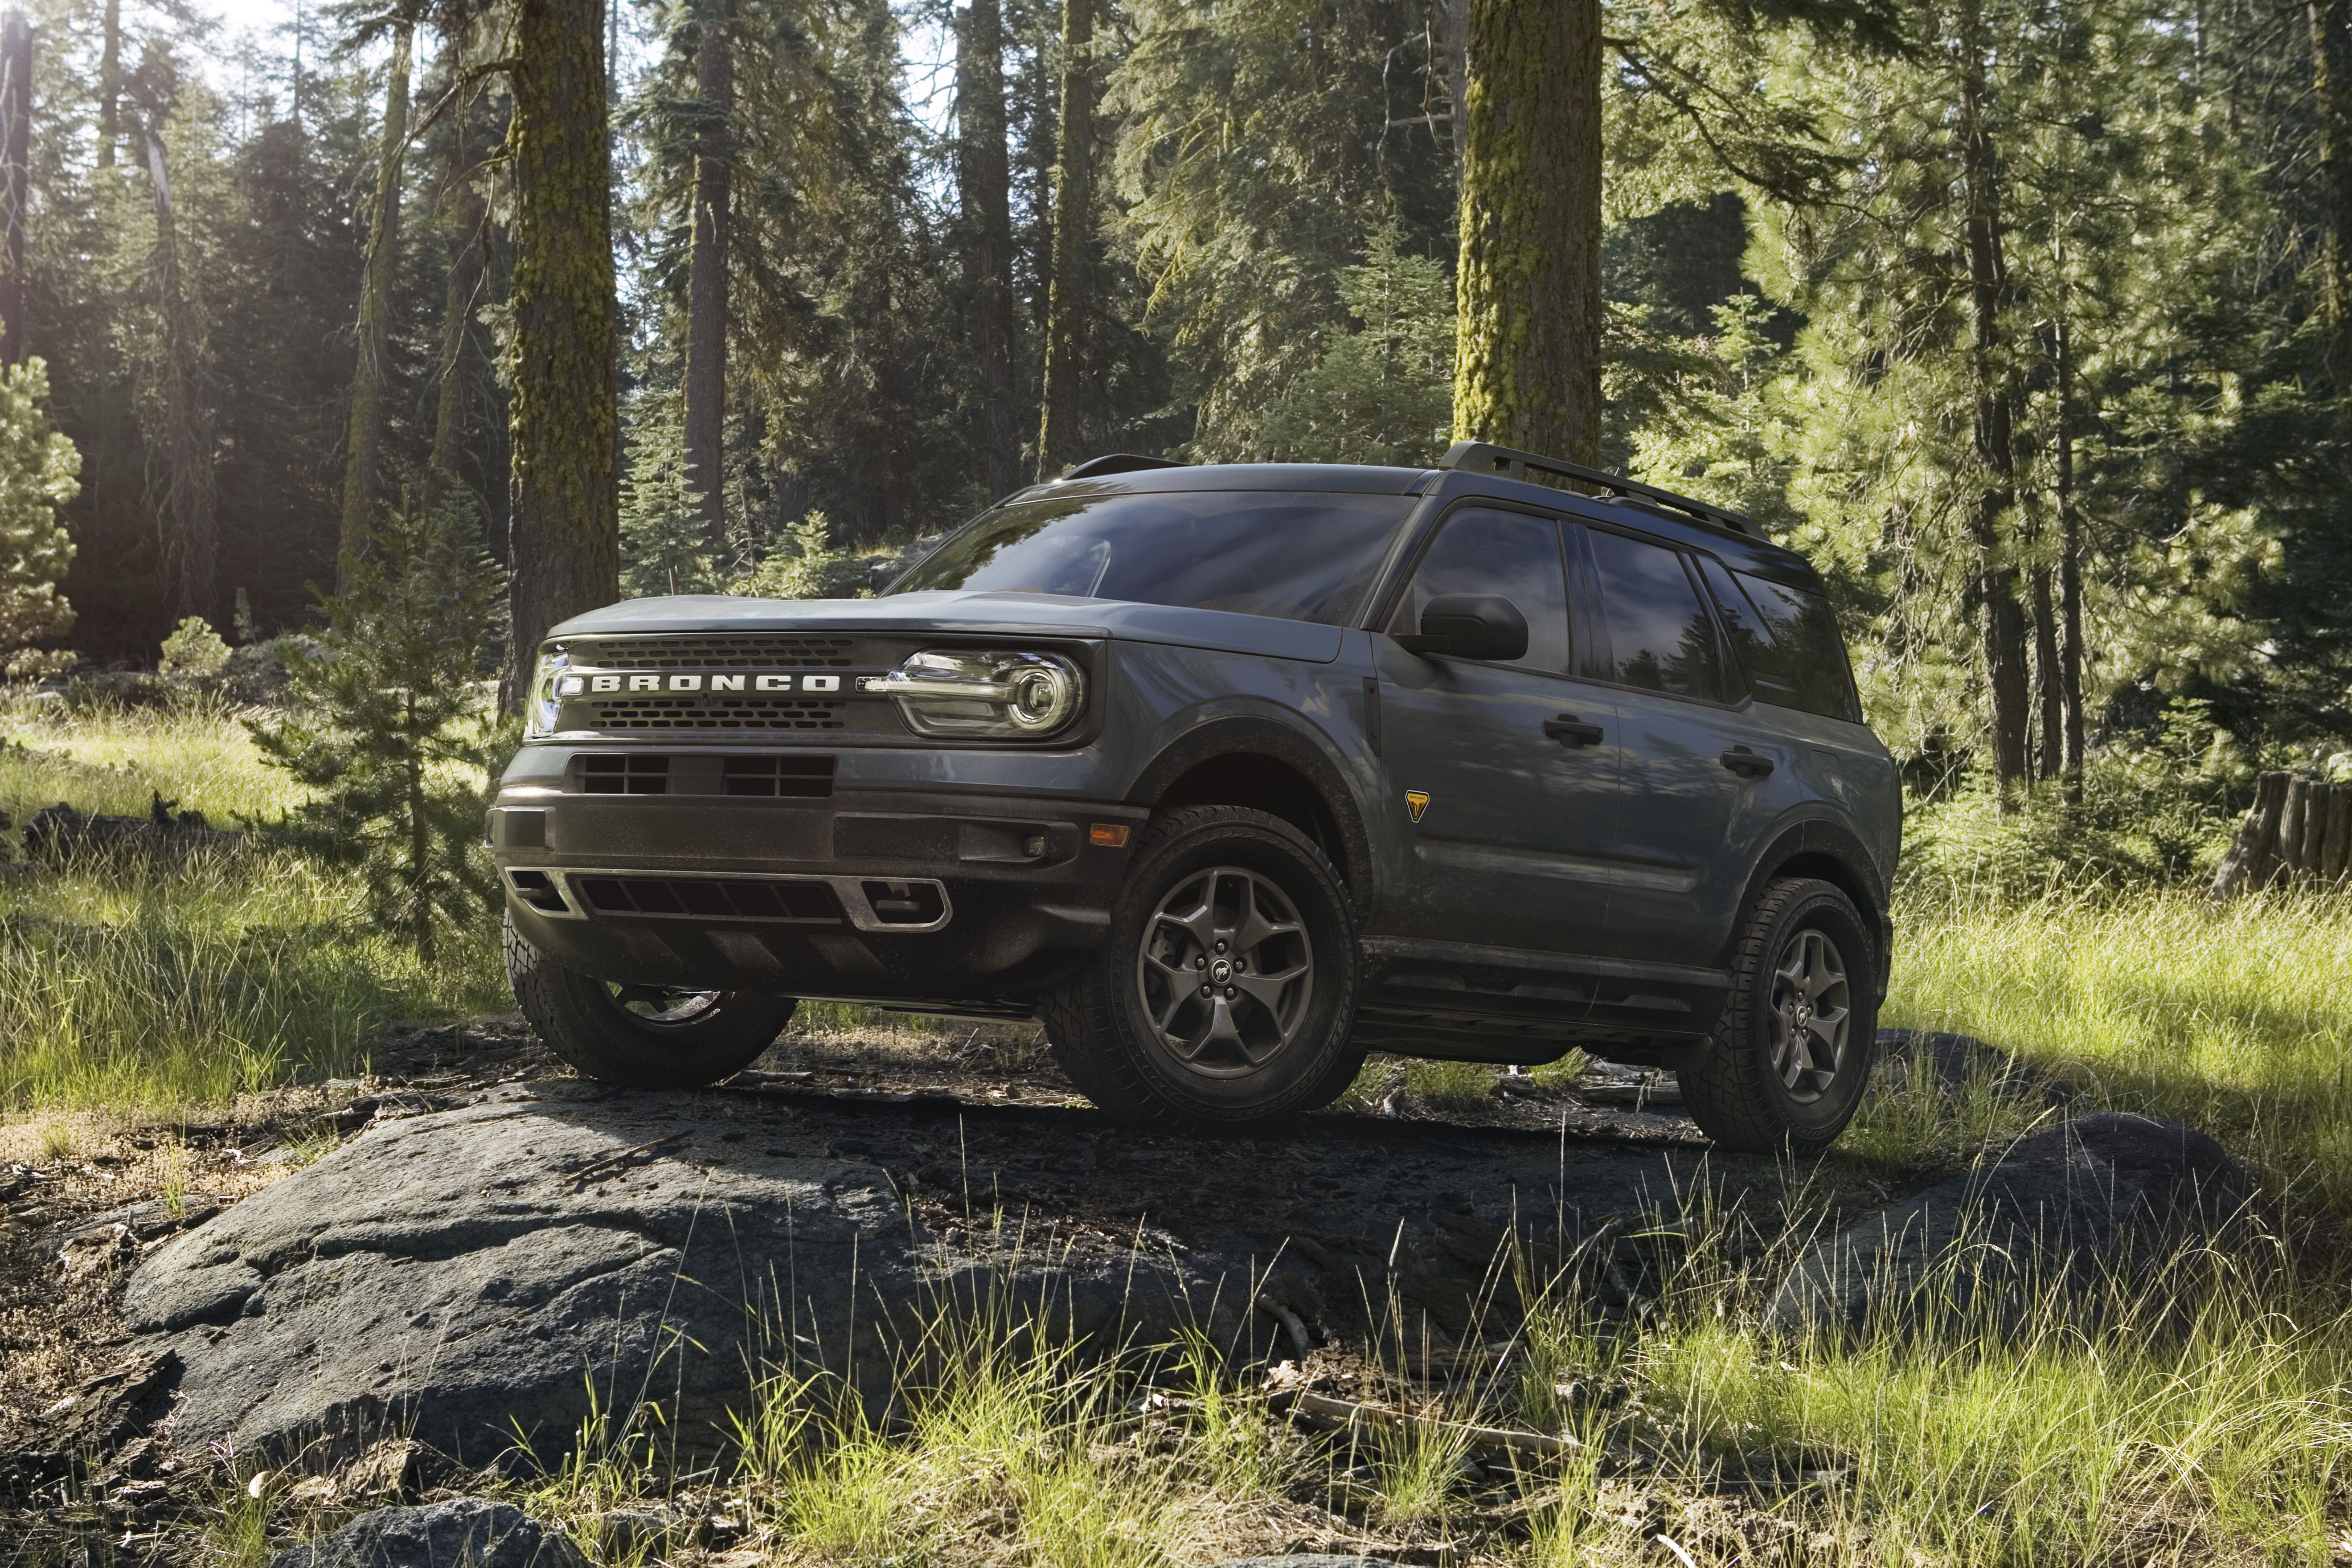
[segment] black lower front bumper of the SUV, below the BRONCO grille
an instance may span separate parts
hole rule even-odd
[[[489,844],[515,929],[602,980],[1007,1013],[1101,947],[1143,818],[962,792],[508,790]]]

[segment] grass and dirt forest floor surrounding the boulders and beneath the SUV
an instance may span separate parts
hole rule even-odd
[[[0,705],[0,809],[16,823],[56,799],[141,813],[151,797],[216,823],[287,802],[219,705]],[[151,1453],[106,1472],[59,1453],[73,1432],[59,1401],[120,1352],[129,1269],[369,1114],[560,1070],[503,1013],[487,933],[419,966],[353,919],[350,882],[322,867],[242,849],[5,875],[0,1568],[259,1568],[386,1493],[303,1490],[252,1455]],[[1832,1159],[1783,1173],[1769,1225],[1689,1215],[1639,1314],[1545,1302],[1501,1373],[1432,1375],[1376,1342],[1317,1347],[1291,1373],[1197,1354],[1075,1368],[1002,1324],[941,1324],[962,1356],[910,1382],[889,1429],[823,1389],[776,1387],[760,1441],[722,1472],[666,1469],[659,1432],[614,1410],[576,1462],[409,1476],[412,1490],[494,1488],[567,1521],[600,1563],[1190,1568],[1251,1549],[1423,1568],[2352,1561],[2352,898],[2018,903],[1915,886],[1898,947],[1882,1023],[1978,1034],[2065,1077],[2079,1107],[2211,1131],[2281,1215],[2293,1267],[2157,1340],[2096,1326],[1776,1338],[1764,1307],[1790,1262],[1778,1237],[1802,1229],[1792,1213],[1898,1194],[2051,1114],[1997,1079],[1889,1084]],[[1035,1030],[823,1006],[760,1072],[741,1093],[837,1124],[844,1154],[868,1143],[891,1159],[913,1159],[891,1140],[943,1103],[1075,1100]],[[1484,1067],[1376,1060],[1331,1121],[1369,1128],[1345,1154],[1367,1164],[1390,1159],[1378,1128],[1399,1145],[1550,1135],[1628,1159],[1703,1154],[1672,1105],[1623,1103],[1642,1086],[1581,1060],[1498,1084]],[[946,1131],[927,1135],[960,1157]],[[1162,1201],[1249,1178],[1216,1145],[1157,1159]],[[92,1227],[118,1211],[136,1213]],[[1322,1432],[1275,1413],[1270,1375],[1585,1448],[1515,1462],[1458,1427]],[[1778,1481],[1740,1479],[1759,1465]]]

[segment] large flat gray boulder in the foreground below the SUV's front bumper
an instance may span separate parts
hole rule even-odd
[[[125,1295],[141,1349],[181,1363],[172,1441],[553,1462],[590,1410],[656,1401],[691,1448],[764,1366],[830,1368],[882,1408],[889,1342],[950,1302],[1009,1295],[1098,1340],[1216,1333],[1190,1302],[1240,1321],[1244,1291],[1171,1258],[950,1253],[880,1164],[795,1152],[790,1114],[741,1103],[513,1086],[379,1119],[176,1237]]]

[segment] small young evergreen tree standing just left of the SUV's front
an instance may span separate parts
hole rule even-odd
[[[358,867],[367,922],[433,964],[499,896],[482,811],[510,736],[482,670],[503,581],[449,505],[388,515],[346,581],[322,644],[287,658],[294,712],[249,724],[310,795],[268,837]]]

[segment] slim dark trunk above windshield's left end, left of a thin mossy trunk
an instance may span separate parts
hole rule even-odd
[[[1004,12],[971,0],[955,33],[955,186],[971,259],[971,357],[981,371],[988,498],[1021,487],[1014,414],[1014,209],[1004,132]]]

